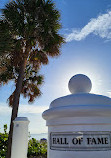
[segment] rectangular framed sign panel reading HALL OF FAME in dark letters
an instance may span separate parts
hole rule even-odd
[[[66,151],[111,150],[111,132],[52,132],[50,149]]]

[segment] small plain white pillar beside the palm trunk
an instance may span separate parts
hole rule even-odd
[[[13,123],[11,158],[27,158],[29,120],[27,117],[17,117]]]

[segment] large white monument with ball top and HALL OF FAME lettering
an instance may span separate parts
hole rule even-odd
[[[91,81],[82,74],[68,86],[72,94],[43,113],[48,158],[111,158],[111,98],[89,93]]]

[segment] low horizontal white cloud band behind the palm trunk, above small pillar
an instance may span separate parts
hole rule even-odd
[[[48,109],[47,106],[34,106],[34,105],[20,105],[19,114],[39,114]],[[0,114],[11,113],[11,108],[6,104],[0,104]]]

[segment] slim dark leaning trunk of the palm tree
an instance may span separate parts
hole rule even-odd
[[[11,146],[12,146],[12,134],[13,134],[13,120],[17,117],[18,114],[18,107],[19,107],[19,99],[20,93],[22,89],[22,82],[24,77],[24,70],[26,67],[26,59],[22,61],[19,76],[17,79],[16,89],[14,92],[14,100],[13,100],[13,108],[12,108],[12,116],[11,116],[11,123],[10,123],[10,131],[9,131],[9,138],[8,138],[8,148],[6,158],[11,158]]]

